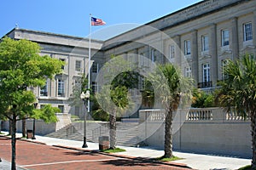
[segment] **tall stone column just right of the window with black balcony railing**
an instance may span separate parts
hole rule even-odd
[[[211,81],[212,86],[216,86],[218,80],[218,56],[217,56],[217,34],[216,34],[216,24],[211,26],[211,48],[209,51],[210,56],[212,57],[212,66],[211,66]]]

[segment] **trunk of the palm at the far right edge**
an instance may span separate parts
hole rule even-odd
[[[256,167],[256,111],[251,113],[251,127],[252,127],[252,146],[253,146],[253,161],[252,167]]]

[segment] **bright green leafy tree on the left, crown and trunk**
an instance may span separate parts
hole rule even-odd
[[[27,88],[43,87],[47,77],[61,73],[64,63],[47,55],[40,56],[39,51],[37,43],[27,40],[4,37],[0,42],[0,115],[11,122],[12,169],[16,169],[16,122],[28,117],[56,121],[56,109],[50,105],[35,110],[36,97]]]

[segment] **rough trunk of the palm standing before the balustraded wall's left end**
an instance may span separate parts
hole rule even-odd
[[[172,108],[170,107],[166,113],[165,126],[165,156],[172,157]]]

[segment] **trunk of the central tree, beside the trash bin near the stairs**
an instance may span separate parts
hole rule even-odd
[[[114,150],[116,146],[116,116],[115,114],[109,115],[109,136],[110,136],[110,149]]]

